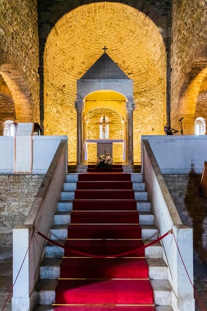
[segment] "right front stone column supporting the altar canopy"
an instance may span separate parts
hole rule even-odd
[[[135,109],[134,101],[126,102],[127,111],[127,164],[134,165],[134,150],[133,150],[133,111]]]

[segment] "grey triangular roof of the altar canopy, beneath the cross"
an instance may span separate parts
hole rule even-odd
[[[82,79],[129,79],[127,75],[104,53],[80,78]]]

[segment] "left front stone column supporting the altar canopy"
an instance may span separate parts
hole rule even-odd
[[[83,165],[83,129],[82,129],[82,112],[84,102],[82,100],[75,101],[75,109],[77,111],[77,165]]]

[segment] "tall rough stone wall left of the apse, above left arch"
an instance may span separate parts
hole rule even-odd
[[[4,64],[4,80],[6,83],[13,83],[16,92],[21,93],[18,104],[23,104],[24,107],[20,109],[18,121],[25,121],[25,115],[26,121],[30,121],[33,119],[33,112],[34,120],[39,120],[37,0],[1,0],[0,11],[0,74],[1,65]],[[12,75],[9,68],[5,67],[7,64],[15,69]],[[15,80],[17,73],[24,81],[24,87],[20,90]],[[14,90],[13,94],[15,96]],[[26,109],[25,96],[28,97]]]

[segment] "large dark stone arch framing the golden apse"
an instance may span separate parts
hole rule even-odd
[[[46,41],[49,34],[54,28],[56,33],[58,30],[56,28],[56,23],[65,14],[70,11],[80,7],[86,6],[92,3],[92,5],[101,4],[101,2],[107,5],[108,3],[120,3],[124,5],[129,5],[138,11],[145,14],[145,16],[150,18],[155,25],[157,30],[161,34],[167,51],[167,67],[166,79],[168,80],[166,85],[166,100],[167,100],[167,122],[169,122],[169,101],[170,101],[170,1],[166,0],[162,3],[152,2],[150,0],[74,0],[74,1],[64,1],[56,0],[47,5],[47,1],[40,1],[39,3],[39,42],[40,42],[40,120],[41,125],[44,127],[44,51],[46,46]]]

